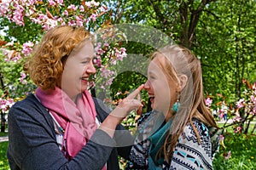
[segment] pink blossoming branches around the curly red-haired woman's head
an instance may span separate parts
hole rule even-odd
[[[15,71],[20,71],[16,81],[19,82],[19,86],[24,85],[24,91],[27,90],[25,87],[33,88],[32,81],[29,80],[26,72],[22,71],[24,59],[31,54],[32,48],[37,45],[44,31],[60,25],[81,26],[96,35],[94,63],[100,75],[98,77],[101,79],[98,83],[101,83],[102,89],[112,83],[115,71],[110,69],[111,66],[116,65],[119,60],[126,56],[125,48],[121,47],[119,40],[115,37],[118,35],[125,38],[125,36],[113,27],[111,11],[105,5],[101,5],[94,0],[72,2],[63,0],[0,0],[0,17],[2,19],[20,27],[37,26],[39,28],[38,37],[33,37],[23,43],[15,37],[13,37],[15,40],[10,42],[5,41],[4,38],[0,39],[4,61],[16,68]],[[20,32],[20,34],[22,33]],[[25,33],[29,34],[29,32]],[[1,73],[1,75],[3,74]],[[2,77],[1,81],[3,82],[3,80]],[[93,87],[96,82],[97,80],[91,82],[91,86]],[[32,88],[29,90],[32,90]],[[17,91],[17,89],[18,86],[14,87],[3,82],[2,96],[0,95],[2,115],[8,112],[9,107],[14,104],[15,100],[22,99],[22,95],[25,95],[9,93],[10,91]]]

